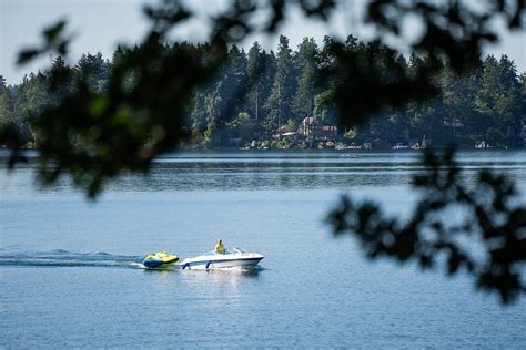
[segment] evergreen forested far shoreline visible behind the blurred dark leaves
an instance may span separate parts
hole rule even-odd
[[[247,52],[236,45],[230,47],[220,73],[206,86],[194,91],[189,103],[186,146],[286,148],[318,145],[322,141],[331,146],[342,142],[391,147],[411,145],[424,137],[434,146],[452,142],[465,147],[475,144],[524,146],[526,73],[519,75],[505,54],[482,58],[478,66],[462,76],[444,62],[434,76],[438,93],[433,100],[425,103],[406,101],[396,109],[382,110],[365,124],[342,127],[337,125],[338,111],[334,104],[335,82],[332,80],[335,78],[318,80],[320,73],[334,62],[327,50],[331,42],[326,37],[318,45],[313,39],[305,38],[293,50],[289,39],[282,35],[275,51],[267,52],[257,42]],[[206,43],[180,42],[166,47],[166,53],[175,47],[198,52],[203,64],[210,60],[211,47]],[[390,79],[393,66],[411,75],[426,60],[416,54],[405,58],[384,45],[364,43],[353,37],[347,38],[345,50],[373,61],[385,80]],[[108,87],[113,63],[128,53],[118,49],[111,60],[100,53],[84,54],[73,66],[55,58],[50,70],[72,71],[74,76],[85,78],[90,89],[103,91]],[[74,89],[73,83],[59,90],[49,89],[53,84],[50,76],[47,72],[31,73],[21,84],[7,85],[0,75],[0,123],[16,125],[29,145],[38,146],[39,143],[39,135],[31,131],[31,115],[57,104]],[[133,80],[131,74],[130,85]],[[320,132],[313,132],[313,127]]]

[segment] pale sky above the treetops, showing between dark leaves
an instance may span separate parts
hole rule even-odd
[[[371,30],[360,22],[362,1],[343,1],[337,13],[331,18],[328,24],[302,19],[299,13],[287,13],[290,20],[280,29],[291,40],[291,47],[296,48],[304,37],[313,37],[322,44],[324,35],[345,38],[353,33],[358,39],[367,39]],[[365,0],[366,1],[366,0]],[[45,66],[49,59],[42,59],[31,65],[19,68],[14,64],[18,52],[26,47],[40,42],[40,32],[45,25],[60,18],[69,21],[69,32],[74,33],[73,44],[70,47],[70,60],[74,63],[82,53],[101,52],[111,58],[118,43],[138,42],[148,30],[148,21],[141,9],[144,0],[0,0],[0,74],[8,84],[17,84],[26,73],[38,71]],[[190,41],[205,40],[210,25],[210,14],[224,4],[220,0],[194,0],[190,2],[199,17],[183,28],[180,28],[174,38]],[[496,24],[497,28],[502,28]],[[406,25],[407,38],[414,37],[416,29],[411,23]],[[507,54],[515,61],[518,72],[526,71],[526,33],[506,32],[497,45],[486,48],[485,53],[500,56]],[[251,37],[243,42],[247,50],[254,40],[265,49],[275,49],[277,39],[263,35]],[[404,51],[402,43],[393,43]],[[406,52],[405,52],[406,53]]]

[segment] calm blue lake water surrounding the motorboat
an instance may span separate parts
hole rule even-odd
[[[1,156],[6,153],[1,153]],[[33,165],[0,168],[0,347],[526,348],[526,303],[503,307],[466,276],[368,261],[324,217],[340,194],[404,217],[413,152],[210,152],[160,158],[94,203]],[[526,152],[463,152],[514,178]],[[254,271],[159,271],[218,238],[265,255]]]

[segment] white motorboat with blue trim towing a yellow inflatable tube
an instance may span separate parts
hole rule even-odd
[[[208,270],[232,267],[253,268],[263,258],[264,256],[259,253],[250,253],[242,248],[231,248],[225,249],[224,254],[219,254],[213,250],[194,258],[186,258],[176,265],[183,270]]]

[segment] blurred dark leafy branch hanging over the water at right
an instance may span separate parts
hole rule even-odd
[[[421,198],[407,219],[344,196],[327,219],[334,235],[356,237],[372,259],[444,265],[449,275],[465,270],[505,303],[526,292],[526,209],[513,183],[482,171],[465,184],[452,148],[442,155],[426,152],[423,164],[426,171],[413,178]]]

